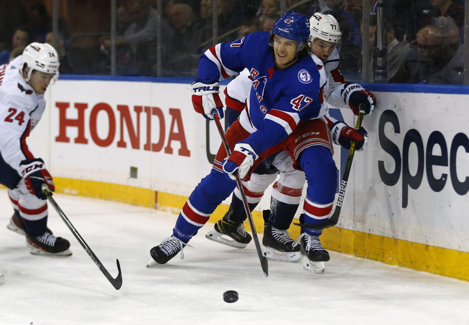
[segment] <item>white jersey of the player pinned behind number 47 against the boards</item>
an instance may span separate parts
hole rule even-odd
[[[312,54],[311,57],[316,62],[320,74],[320,97],[322,97],[320,100],[322,105],[321,112],[324,112],[324,117],[329,120],[329,124],[332,124],[337,122],[337,120],[330,117],[329,105],[337,108],[349,108],[341,96],[346,81],[339,70],[339,53],[337,49],[334,49],[325,62],[322,62],[314,54]],[[236,100],[236,102],[243,103],[248,97],[252,86],[252,81],[249,79],[249,76],[248,69],[241,71],[239,76],[227,85],[227,95]],[[320,118],[320,116],[318,118]]]

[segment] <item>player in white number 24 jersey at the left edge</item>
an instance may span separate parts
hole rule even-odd
[[[26,138],[45,108],[44,92],[59,75],[59,57],[49,44],[33,42],[21,56],[0,67],[0,183],[14,209],[8,229],[26,237],[31,254],[69,256],[70,243],[47,227],[43,184],[55,190],[43,159]]]

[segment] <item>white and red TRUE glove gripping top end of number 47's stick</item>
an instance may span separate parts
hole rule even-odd
[[[194,105],[194,110],[208,120],[213,120],[213,109],[216,109],[218,117],[223,119],[223,103],[218,95],[219,89],[218,82],[212,84],[198,81],[192,82],[192,104]]]

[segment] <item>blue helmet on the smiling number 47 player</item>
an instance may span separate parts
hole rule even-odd
[[[297,41],[298,51],[301,50],[303,43],[308,41],[310,33],[310,23],[306,16],[298,14],[293,10],[284,13],[272,25],[269,44],[273,45],[274,35],[284,39]]]

